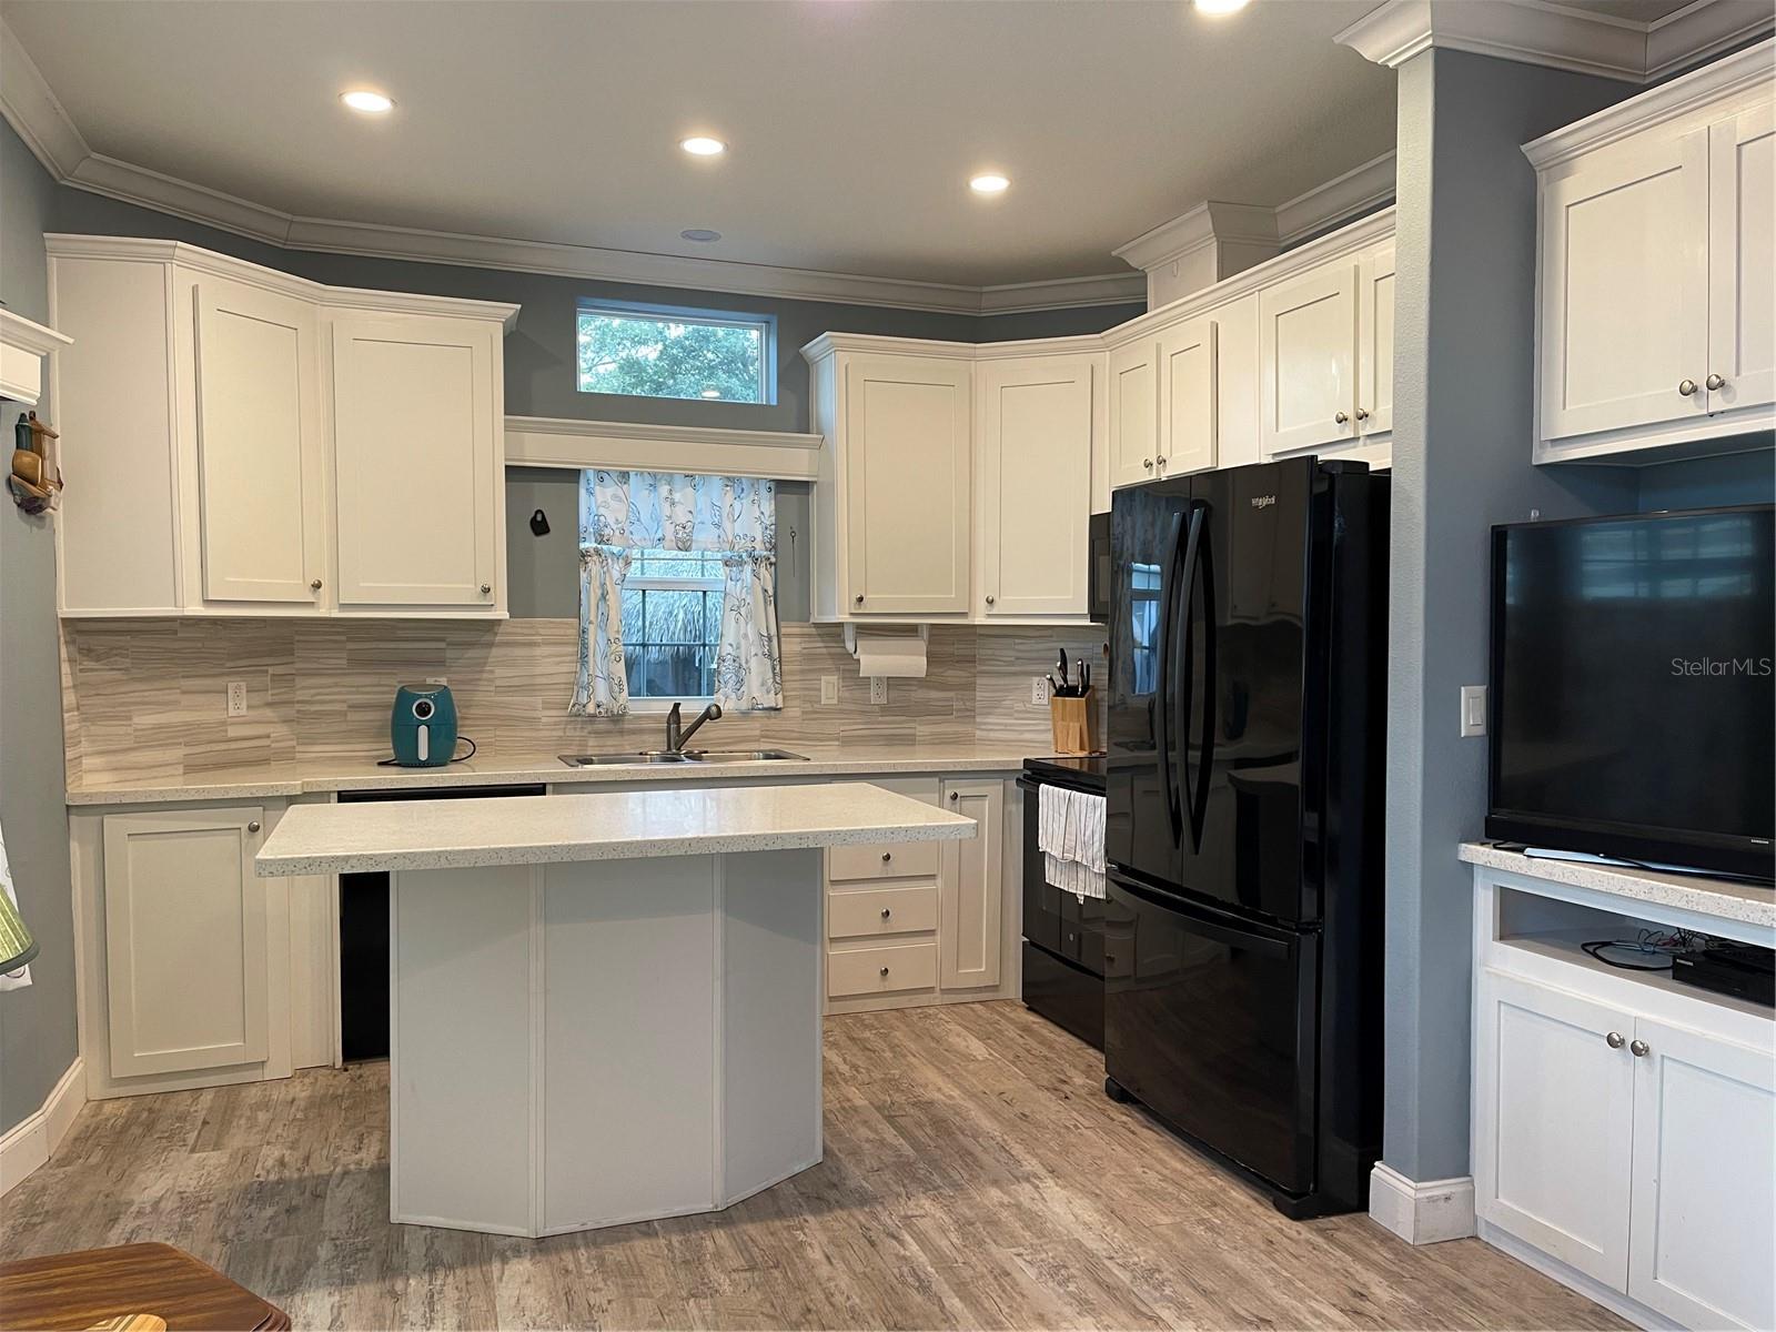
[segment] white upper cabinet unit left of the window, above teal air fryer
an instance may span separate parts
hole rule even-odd
[[[515,305],[48,236],[62,614],[504,614]],[[75,448],[78,444],[78,448]]]

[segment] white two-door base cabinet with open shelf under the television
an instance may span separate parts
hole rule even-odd
[[[1776,1327],[1776,1014],[1581,947],[1641,929],[1776,947],[1776,890],[1460,854],[1479,1236],[1641,1327]]]

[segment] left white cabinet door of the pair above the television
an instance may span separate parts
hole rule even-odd
[[[1707,130],[1543,186],[1542,439],[1707,412]]]

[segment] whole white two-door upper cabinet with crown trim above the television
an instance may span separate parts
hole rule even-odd
[[[1524,147],[1536,462],[1661,462],[1776,423],[1772,103],[1764,43]]]

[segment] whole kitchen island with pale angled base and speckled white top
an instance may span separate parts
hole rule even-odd
[[[821,1160],[824,847],[970,838],[867,783],[302,805],[261,877],[389,872],[389,1215],[556,1234]]]

